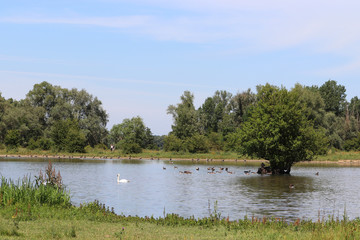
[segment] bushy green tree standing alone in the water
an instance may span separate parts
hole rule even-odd
[[[273,173],[290,173],[294,163],[326,150],[324,132],[315,129],[297,91],[258,86],[257,103],[238,132],[239,150],[269,160]]]

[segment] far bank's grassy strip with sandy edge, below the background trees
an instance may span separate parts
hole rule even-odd
[[[0,158],[23,159],[23,158],[46,158],[61,160],[169,160],[169,161],[192,161],[214,162],[214,163],[254,163],[265,162],[263,159],[253,159],[248,156],[241,156],[234,152],[209,152],[200,154],[164,152],[154,150],[144,150],[138,154],[124,155],[120,151],[93,150],[87,153],[56,153],[52,151],[28,150],[20,148],[17,150],[0,150]],[[329,152],[325,156],[318,156],[313,161],[304,161],[299,164],[337,164],[337,165],[360,165],[360,152]]]

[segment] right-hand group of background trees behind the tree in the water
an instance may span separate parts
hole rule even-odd
[[[280,96],[263,101],[265,86],[257,86],[257,93],[250,89],[233,95],[227,91],[216,91],[212,97],[196,109],[194,95],[185,91],[180,103],[170,105],[168,114],[173,117],[172,132],[165,137],[166,151],[207,152],[209,150],[239,151],[244,142],[239,142],[239,131],[249,121],[259,104],[282,104]],[[266,85],[269,91],[286,90],[277,86]],[[304,115],[314,129],[324,132],[327,146],[340,150],[358,150],[360,147],[360,100],[353,97],[346,100],[346,89],[334,80],[328,80],[319,86],[302,86],[296,84],[289,95],[296,95],[296,101],[304,108]],[[260,101],[261,100],[261,101]],[[290,101],[290,100],[288,100]],[[262,124],[271,124],[277,119],[277,111]],[[285,117],[285,116],[283,116]],[[296,115],[292,116],[294,120]],[[258,119],[251,119],[255,121]],[[258,130],[258,129],[257,129]],[[276,129],[274,129],[275,131]],[[290,134],[290,133],[289,133]]]

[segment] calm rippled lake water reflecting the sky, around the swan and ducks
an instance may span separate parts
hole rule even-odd
[[[243,162],[89,160],[56,161],[53,166],[61,171],[74,204],[97,199],[125,215],[158,217],[166,212],[204,217],[209,216],[209,203],[213,210],[217,201],[218,211],[232,220],[244,216],[317,220],[342,217],[345,210],[350,219],[360,216],[357,167],[295,166],[290,176],[260,176],[245,175],[245,170],[256,171],[257,166]],[[210,166],[218,173],[208,174]],[[221,166],[234,174],[219,173]],[[0,161],[1,175],[13,180],[37,175],[46,167],[46,159]],[[185,170],[192,174],[179,173]],[[118,184],[117,173],[131,182]]]

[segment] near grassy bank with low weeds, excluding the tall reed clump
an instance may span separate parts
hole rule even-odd
[[[1,239],[359,239],[360,220],[227,221],[119,216],[97,202],[81,207],[15,206],[0,209]]]

